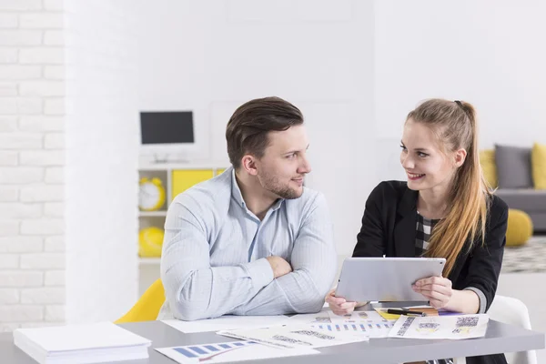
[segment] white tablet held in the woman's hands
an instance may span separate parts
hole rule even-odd
[[[411,285],[441,276],[445,258],[346,258],[336,296],[348,301],[426,301]]]

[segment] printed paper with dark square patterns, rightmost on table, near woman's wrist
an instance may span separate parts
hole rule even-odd
[[[488,315],[400,316],[390,330],[389,338],[472,339],[487,331]]]

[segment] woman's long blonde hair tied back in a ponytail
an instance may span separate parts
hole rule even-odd
[[[482,244],[490,203],[488,186],[480,166],[478,126],[474,107],[463,101],[430,99],[408,114],[407,120],[429,126],[436,133],[444,153],[464,148],[467,152],[448,194],[450,211],[434,227],[427,257],[446,258],[444,276],[448,276],[455,260],[470,238]]]

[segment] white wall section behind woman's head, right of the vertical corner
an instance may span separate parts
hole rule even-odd
[[[376,1],[379,136],[399,139],[420,100],[444,97],[477,107],[482,148],[546,142],[544,14],[531,0]]]

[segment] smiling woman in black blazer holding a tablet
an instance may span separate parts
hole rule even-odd
[[[408,181],[385,181],[371,192],[353,257],[446,258],[443,277],[413,289],[434,308],[484,313],[490,307],[506,242],[508,207],[481,174],[474,108],[431,99],[408,115],[400,163]],[[357,302],[326,298],[339,315]],[[503,354],[467,363],[506,363]]]

